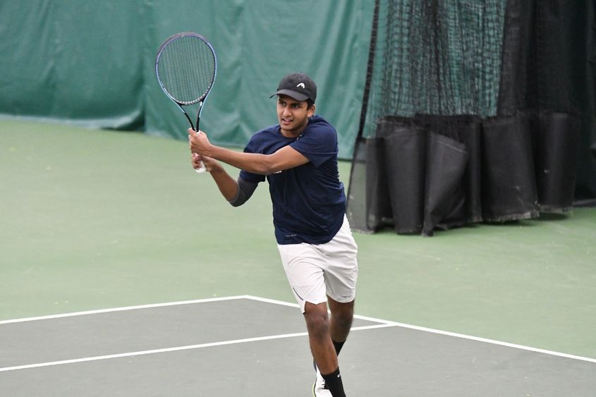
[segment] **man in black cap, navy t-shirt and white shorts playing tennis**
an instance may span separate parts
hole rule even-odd
[[[337,355],[353,319],[358,248],[345,214],[337,134],[315,116],[317,86],[308,75],[287,75],[275,95],[279,124],[255,133],[244,152],[212,145],[205,133],[189,129],[193,166],[203,161],[235,207],[258,183],[269,182],[281,262],[303,312],[317,370],[313,393],[345,397]],[[241,169],[238,180],[217,160]]]

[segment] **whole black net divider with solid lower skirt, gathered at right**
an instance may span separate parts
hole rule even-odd
[[[432,236],[596,203],[593,0],[376,0],[372,28],[355,230]]]

